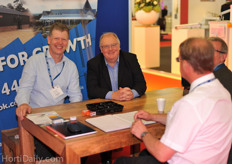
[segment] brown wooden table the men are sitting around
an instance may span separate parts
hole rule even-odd
[[[182,97],[183,90],[180,88],[167,88],[162,90],[155,90],[146,92],[140,98],[131,101],[115,101],[124,106],[123,112],[130,112],[134,110],[145,110],[151,113],[157,113],[156,98],[166,98],[165,112],[168,112],[175,101]],[[19,121],[20,129],[20,144],[21,153],[28,159],[25,163],[34,163],[35,161],[29,160],[34,157],[34,140],[33,136],[37,137],[51,149],[53,149],[60,157],[63,157],[62,163],[80,163],[80,157],[97,154],[100,152],[114,150],[129,145],[136,145],[141,142],[130,133],[130,129],[105,133],[97,129],[87,122],[87,116],[82,116],[81,111],[86,109],[86,104],[107,101],[105,99],[93,99],[82,101],[78,103],[69,103],[51,107],[35,108],[32,113],[56,111],[60,116],[69,118],[70,116],[77,116],[77,119],[87,124],[88,126],[97,130],[97,133],[64,140],[54,133],[47,130],[45,127],[40,127],[32,123],[28,119]],[[164,133],[164,126],[156,123],[147,125],[148,130],[156,137],[160,138]]]

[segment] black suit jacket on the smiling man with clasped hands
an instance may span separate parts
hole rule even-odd
[[[118,67],[118,88],[135,89],[141,96],[147,86],[142,70],[134,54],[120,51]],[[87,91],[90,99],[105,98],[112,91],[110,76],[102,53],[87,62]]]

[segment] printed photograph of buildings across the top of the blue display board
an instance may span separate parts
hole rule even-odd
[[[46,37],[55,21],[71,29],[95,19],[96,13],[97,0],[1,0],[0,49],[17,37],[22,43],[37,33]]]

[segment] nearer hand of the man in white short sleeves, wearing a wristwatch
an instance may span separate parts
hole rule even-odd
[[[141,134],[147,132],[146,126],[139,119],[135,120],[131,126],[131,133],[134,134],[137,138],[141,139]]]

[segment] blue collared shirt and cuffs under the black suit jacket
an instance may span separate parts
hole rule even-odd
[[[109,91],[107,94],[106,94],[106,97],[105,99],[112,99],[112,94],[113,92],[117,91],[118,88],[120,86],[118,86],[118,66],[119,66],[119,57],[117,59],[117,62],[115,63],[114,65],[114,68],[111,67],[106,59],[105,59],[105,63],[106,63],[106,66],[108,68],[108,71],[109,71],[109,75],[110,75],[110,81],[111,81],[111,86],[112,86],[112,91]],[[134,89],[131,89],[132,93],[133,93],[133,98],[135,97],[139,97],[139,94],[136,90]]]

